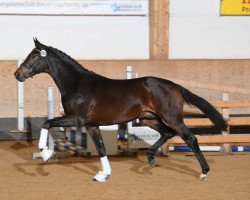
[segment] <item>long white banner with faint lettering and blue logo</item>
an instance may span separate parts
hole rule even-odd
[[[1,14],[147,15],[148,0],[0,0]]]

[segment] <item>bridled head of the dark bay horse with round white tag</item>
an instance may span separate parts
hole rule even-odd
[[[36,74],[49,72],[47,46],[41,44],[36,38],[34,38],[34,43],[35,48],[14,73],[18,81],[23,82],[27,78],[33,77]]]

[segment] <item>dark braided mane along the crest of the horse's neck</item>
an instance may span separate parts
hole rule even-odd
[[[54,53],[56,53],[63,61],[65,61],[66,63],[73,66],[79,73],[98,75],[98,74],[84,68],[79,62],[77,62],[75,59],[71,58],[68,54],[62,52],[61,50],[56,49],[56,48],[51,47],[51,46],[49,46],[48,48],[50,50],[52,50]]]

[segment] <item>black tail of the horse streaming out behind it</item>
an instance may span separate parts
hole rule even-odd
[[[178,85],[182,97],[187,104],[192,104],[199,108],[221,131],[227,130],[227,122],[222,115],[205,99],[193,94],[186,88]]]

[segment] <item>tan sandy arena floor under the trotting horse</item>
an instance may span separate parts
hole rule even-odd
[[[137,158],[110,157],[112,174],[106,183],[92,181],[100,170],[98,157],[31,159],[37,141],[0,142],[0,199],[107,199],[107,200],[249,200],[250,153],[205,153],[211,167],[199,181],[200,167],[192,153],[157,156],[149,167],[142,153]]]

